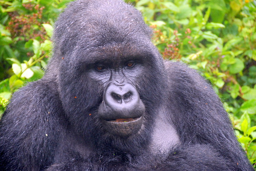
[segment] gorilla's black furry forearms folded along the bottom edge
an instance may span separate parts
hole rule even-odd
[[[116,160],[114,159],[116,157]],[[111,156],[111,162],[100,163],[100,158],[84,159],[76,154],[73,160],[61,164],[54,164],[46,171],[74,171],[74,170],[97,170],[97,171],[232,171],[234,168],[227,166],[228,160],[222,158],[211,145],[180,145],[171,150],[169,156],[163,160],[161,156],[152,156],[145,152],[140,157],[122,165],[118,156]],[[242,171],[242,170],[241,170]]]

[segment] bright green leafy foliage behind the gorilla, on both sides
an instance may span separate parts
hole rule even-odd
[[[42,78],[52,30],[70,0],[0,0],[0,117],[11,94]],[[256,1],[130,0],[165,59],[212,83],[238,140],[256,165]]]

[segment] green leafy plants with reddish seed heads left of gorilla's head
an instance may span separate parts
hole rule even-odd
[[[52,25],[67,2],[0,1],[0,117],[14,91],[44,75]]]

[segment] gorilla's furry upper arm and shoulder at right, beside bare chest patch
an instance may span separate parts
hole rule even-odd
[[[229,169],[254,170],[248,164],[249,161],[234,135],[229,116],[211,85],[195,70],[182,63],[165,61],[165,67],[169,77],[168,108],[172,114],[172,123],[181,143],[190,149],[188,153],[195,150],[195,155],[199,154],[201,149],[207,147],[205,145],[210,145],[214,153],[228,161],[226,164]],[[196,152],[195,148],[189,148],[193,144],[202,144],[202,147],[199,145]]]

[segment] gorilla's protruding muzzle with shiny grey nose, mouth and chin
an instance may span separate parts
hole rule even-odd
[[[110,83],[104,92],[98,114],[107,132],[127,137],[140,130],[144,112],[145,106],[132,84]]]

